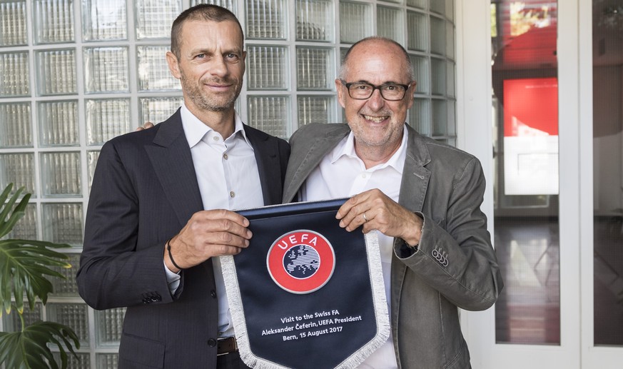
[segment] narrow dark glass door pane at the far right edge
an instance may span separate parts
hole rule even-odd
[[[593,1],[594,345],[623,346],[623,4]]]

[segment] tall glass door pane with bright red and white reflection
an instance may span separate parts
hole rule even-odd
[[[492,12],[496,341],[559,345],[557,4],[492,1]]]

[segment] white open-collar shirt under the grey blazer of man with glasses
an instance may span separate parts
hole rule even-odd
[[[358,193],[378,188],[385,195],[398,201],[402,168],[405,166],[407,128],[402,131],[402,143],[398,151],[386,162],[365,168],[363,161],[355,153],[353,132],[343,138],[338,146],[330,151],[320,162],[300,188],[301,201],[319,201],[331,198],[347,198]],[[369,217],[370,215],[368,215]],[[390,273],[393,254],[393,238],[378,232],[381,265],[388,311],[391,309]],[[387,342],[370,355],[358,368],[397,368],[392,333]]]

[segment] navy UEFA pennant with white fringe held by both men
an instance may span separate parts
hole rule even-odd
[[[354,368],[388,339],[378,238],[335,219],[345,199],[239,211],[250,246],[221,257],[252,368]]]

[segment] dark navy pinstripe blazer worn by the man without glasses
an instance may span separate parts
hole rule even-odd
[[[244,129],[255,151],[264,203],[280,203],[290,146]],[[220,296],[212,261],[182,271],[173,296],[163,266],[165,241],[201,210],[179,111],[102,147],[76,279],[92,308],[127,307],[119,368],[216,368]]]

